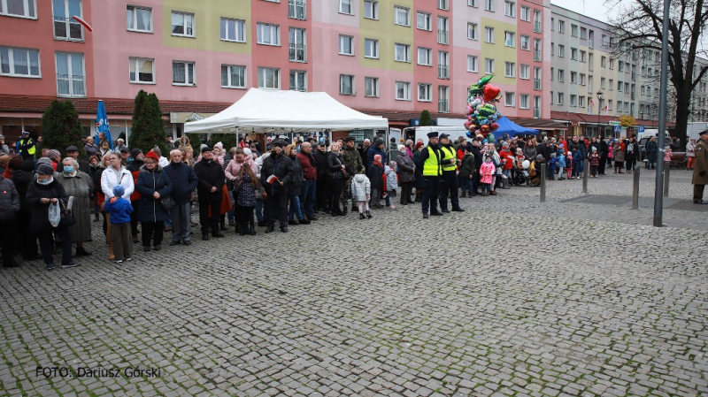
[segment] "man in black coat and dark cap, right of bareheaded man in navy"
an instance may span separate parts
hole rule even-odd
[[[194,166],[194,172],[199,182],[196,194],[199,196],[199,224],[202,225],[202,240],[209,240],[211,230],[213,237],[224,237],[219,232],[221,218],[221,187],[226,176],[219,162],[214,161],[212,148],[202,148],[202,161]]]

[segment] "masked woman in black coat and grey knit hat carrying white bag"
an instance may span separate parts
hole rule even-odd
[[[58,180],[54,179],[54,169],[50,164],[40,164],[37,167],[37,179],[27,188],[27,205],[32,209],[32,220],[30,230],[39,237],[39,245],[42,250],[42,258],[47,270],[55,269],[54,258],[54,237],[56,233],[61,240],[62,267],[74,267],[79,263],[72,260],[72,237],[69,228],[58,225],[54,227],[50,224],[50,203],[68,200],[64,187]]]

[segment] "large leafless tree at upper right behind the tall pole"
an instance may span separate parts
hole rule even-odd
[[[668,78],[675,96],[668,95],[666,100],[675,101],[667,104],[675,110],[676,134],[683,140],[691,112],[691,95],[708,72],[708,62],[700,59],[706,55],[703,31],[708,8],[704,0],[668,1],[671,1]],[[618,10],[617,17],[610,20],[615,27],[612,43],[615,56],[632,54],[637,57],[637,52],[661,51],[664,0],[633,0],[628,5],[623,5],[621,0],[605,0],[605,4]]]

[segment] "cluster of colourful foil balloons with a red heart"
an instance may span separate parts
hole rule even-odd
[[[486,75],[469,88],[467,96],[467,121],[465,128],[469,131],[467,136],[472,138],[477,131],[489,134],[499,127],[496,120],[502,114],[496,110],[496,104],[502,99],[501,90],[489,84],[494,73]]]

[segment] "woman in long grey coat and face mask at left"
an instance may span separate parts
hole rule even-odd
[[[62,164],[58,181],[66,195],[73,196],[72,212],[76,219],[76,223],[69,226],[69,234],[72,242],[76,243],[76,256],[89,256],[91,253],[83,247],[83,243],[91,240],[91,193],[94,191],[94,181],[88,173],[79,170],[79,163],[73,157],[66,157]]]

